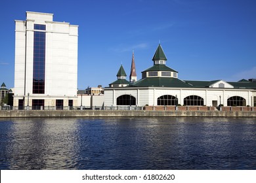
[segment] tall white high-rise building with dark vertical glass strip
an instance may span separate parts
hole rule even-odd
[[[77,105],[78,25],[53,14],[26,12],[15,20],[14,106]]]

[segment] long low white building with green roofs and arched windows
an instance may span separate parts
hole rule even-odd
[[[136,82],[125,80],[126,74],[121,66],[117,73],[117,80],[104,88],[104,105],[106,107],[255,105],[255,82],[181,80],[178,77],[178,71],[167,67],[167,57],[160,44],[152,60],[153,66],[142,71],[142,78]]]

